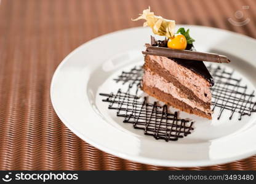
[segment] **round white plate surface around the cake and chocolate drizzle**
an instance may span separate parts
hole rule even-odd
[[[183,25],[177,25],[180,27]],[[225,53],[248,90],[255,89],[256,41],[250,37],[215,28],[184,25],[190,28],[198,51]],[[151,30],[132,28],[106,34],[76,48],[63,59],[52,79],[50,96],[58,117],[82,140],[100,150],[139,163],[157,166],[193,167],[222,164],[256,153],[256,113],[229,120],[230,112],[217,120],[218,109],[209,121],[187,113],[192,134],[176,142],[156,140],[142,130],[122,123],[115,110],[99,93],[116,92],[113,82],[123,70],[143,63],[143,44],[150,41]],[[174,110],[171,109],[170,110]]]

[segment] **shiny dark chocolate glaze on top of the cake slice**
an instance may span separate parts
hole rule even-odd
[[[156,47],[167,47],[167,40],[154,40],[154,37],[151,36],[151,45]],[[193,50],[194,46],[193,44],[188,44],[186,46],[186,50]],[[170,58],[175,63],[180,64],[183,67],[186,67],[187,69],[190,69],[191,71],[195,72],[196,74],[201,75],[206,79],[211,86],[214,85],[214,79],[212,78],[212,75],[210,75],[206,65],[202,61],[195,61],[191,59],[180,59],[180,58]]]

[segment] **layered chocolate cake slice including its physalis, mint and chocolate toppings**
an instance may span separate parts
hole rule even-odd
[[[150,7],[132,20],[146,20],[143,26],[165,37],[156,41],[151,36],[151,45],[146,44],[146,51],[142,52],[145,55],[143,91],[177,109],[211,119],[210,86],[214,80],[202,61],[230,63],[230,59],[216,53],[196,52],[190,29],[175,31],[175,20],[154,15]]]

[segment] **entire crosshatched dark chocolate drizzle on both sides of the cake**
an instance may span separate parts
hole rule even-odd
[[[233,118],[234,113],[238,113],[238,120],[244,115],[251,115],[256,112],[256,102],[254,91],[247,92],[247,85],[242,83],[241,79],[233,77],[232,72],[228,72],[225,67],[212,66],[207,67],[210,74],[215,80],[212,86],[212,110],[218,113],[218,120],[223,112],[229,112],[229,119]],[[118,90],[116,94],[100,93],[105,96],[104,102],[108,102],[109,109],[117,110],[119,117],[124,117],[124,123],[132,123],[134,128],[143,129],[146,135],[151,135],[156,139],[178,140],[191,134],[193,131],[193,121],[178,118],[178,113],[168,112],[167,105],[159,105],[147,102],[144,97],[143,101],[138,96],[140,83],[143,77],[143,67],[135,66],[129,72],[123,71],[116,82],[122,82],[122,85],[129,83],[126,92]],[[130,89],[137,88],[134,94]],[[217,110],[216,107],[219,107]]]

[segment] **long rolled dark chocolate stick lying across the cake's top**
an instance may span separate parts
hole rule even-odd
[[[215,53],[177,50],[165,47],[153,47],[151,45],[146,45],[146,47],[146,51],[142,52],[145,55],[165,56],[167,58],[190,59],[196,61],[209,61],[214,63],[230,63],[230,59],[228,59],[226,56],[217,55]]]

